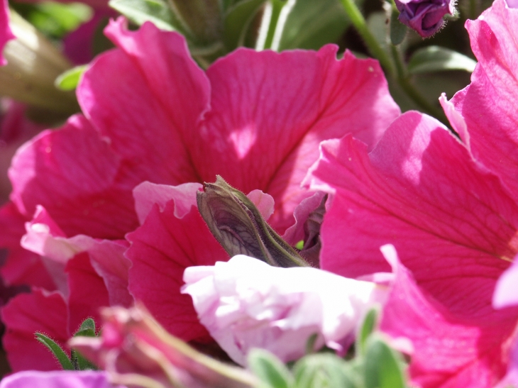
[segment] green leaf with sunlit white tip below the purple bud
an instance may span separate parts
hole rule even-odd
[[[460,52],[439,46],[428,46],[414,52],[408,64],[408,71],[410,74],[441,72],[444,70],[473,72],[476,64],[477,62]]]

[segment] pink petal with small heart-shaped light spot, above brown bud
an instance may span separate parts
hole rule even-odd
[[[242,192],[268,192],[280,233],[308,196],[299,185],[320,141],[353,133],[372,148],[399,114],[378,62],[349,52],[336,60],[336,50],[240,49],[207,70],[211,111],[193,147],[200,175],[212,182],[220,174]]]

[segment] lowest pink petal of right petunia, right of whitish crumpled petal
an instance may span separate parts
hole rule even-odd
[[[477,326],[459,320],[423,292],[400,263],[383,310],[381,329],[412,340],[410,375],[419,387],[492,387],[505,371],[500,345],[516,323],[517,309],[483,314]],[[482,318],[482,317],[479,317]]]

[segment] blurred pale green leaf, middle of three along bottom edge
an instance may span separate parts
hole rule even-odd
[[[361,387],[360,375],[337,355],[307,355],[293,368],[296,388]]]

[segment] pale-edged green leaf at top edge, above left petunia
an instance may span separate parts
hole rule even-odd
[[[119,11],[138,26],[150,21],[165,31],[178,31],[175,16],[163,0],[110,0],[111,8]],[[182,31],[183,33],[183,31]]]

